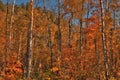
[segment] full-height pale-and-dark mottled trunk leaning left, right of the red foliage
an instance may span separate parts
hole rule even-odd
[[[100,0],[100,9],[101,9],[101,23],[102,23],[102,47],[103,47],[103,55],[104,55],[104,69],[105,69],[105,78],[108,80],[108,58],[107,58],[107,46],[106,46],[106,38],[105,38],[105,22],[104,22],[104,5],[103,0]]]

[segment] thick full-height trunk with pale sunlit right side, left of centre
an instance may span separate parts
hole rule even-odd
[[[27,53],[26,53],[26,78],[30,79],[31,77],[31,68],[32,68],[32,57],[33,57],[33,51],[32,51],[32,28],[33,28],[33,9],[34,9],[34,0],[30,0],[31,5],[31,20],[30,20],[30,26],[28,27],[28,38],[27,38]]]

